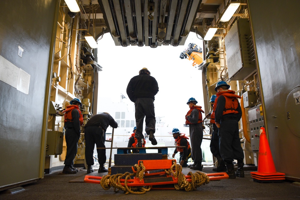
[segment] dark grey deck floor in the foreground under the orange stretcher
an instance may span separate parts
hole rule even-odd
[[[187,174],[189,168],[183,168]],[[214,173],[212,167],[205,167],[205,173]],[[93,172],[89,175],[106,175],[107,173]],[[292,181],[281,183],[257,183],[250,176],[250,171],[245,172],[244,178],[224,179],[210,181],[202,185],[196,191],[184,190],[150,190],[143,195],[126,195],[123,191],[117,193],[113,188],[104,190],[100,184],[82,183],[87,175],[86,169],[79,168],[74,175],[62,174],[61,171],[45,175],[43,179],[23,185],[25,190],[14,194],[7,191],[0,192],[0,199],[101,199],[101,200],[128,200],[128,199],[299,199],[300,186]]]

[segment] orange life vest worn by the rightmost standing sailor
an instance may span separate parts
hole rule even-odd
[[[217,93],[217,98],[214,100],[214,106],[212,108],[213,112],[217,108],[217,102],[219,99],[219,96],[224,96],[225,97],[225,107],[223,110],[223,115],[233,113],[236,114],[238,111],[236,110],[238,108],[238,99],[241,99],[240,96],[235,94],[235,91],[233,90],[223,90]],[[215,106],[216,105],[216,106]]]

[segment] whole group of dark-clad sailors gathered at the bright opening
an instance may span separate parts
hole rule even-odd
[[[225,171],[229,178],[235,176],[244,177],[243,160],[244,153],[241,148],[238,121],[241,119],[241,107],[238,99],[241,97],[235,95],[235,91],[229,90],[229,85],[225,81],[219,81],[216,84],[216,95],[211,96],[212,112],[207,116],[211,117],[210,122],[213,124],[213,134],[211,137],[211,152],[217,158],[217,171]],[[152,145],[157,145],[155,139],[155,111],[154,111],[154,96],[158,93],[158,83],[154,77],[150,76],[150,71],[143,68],[139,71],[139,75],[134,76],[128,83],[127,95],[135,104],[136,127],[131,135],[128,146],[143,147],[145,139],[143,134],[143,123],[145,119],[145,131],[149,135],[149,140]],[[189,167],[194,170],[202,170],[202,150],[201,143],[203,139],[202,126],[202,107],[196,105],[198,101],[191,97],[187,101],[189,111],[185,116],[185,124],[189,125],[189,138],[185,134],[180,133],[177,128],[173,128],[172,134],[175,139],[176,146],[173,157],[177,152],[180,152],[179,163],[183,167]],[[73,167],[73,160],[77,154],[77,143],[80,137],[83,125],[82,113],[79,110],[82,106],[81,101],[77,98],[70,101],[70,105],[64,110],[64,128],[65,138],[67,143],[67,154],[64,161],[63,173],[75,174],[78,169]],[[85,159],[88,165],[87,173],[94,172],[93,151],[95,144],[97,146],[98,161],[100,168],[98,172],[107,172],[104,167],[106,162],[105,149],[105,132],[107,127],[117,128],[118,124],[110,116],[109,113],[96,114],[88,120],[84,126],[85,134]],[[192,158],[193,164],[187,165],[188,158]],[[238,169],[236,173],[233,168],[233,161],[237,160]]]

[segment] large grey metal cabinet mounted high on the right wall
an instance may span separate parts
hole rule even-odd
[[[225,36],[230,80],[244,80],[256,71],[249,19],[236,20]]]

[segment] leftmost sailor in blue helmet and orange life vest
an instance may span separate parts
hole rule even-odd
[[[77,143],[80,138],[80,125],[83,125],[83,116],[79,110],[81,107],[80,99],[74,98],[70,101],[67,109],[62,111],[64,113],[64,128],[65,138],[67,143],[67,153],[64,160],[64,169],[62,170],[65,174],[76,174],[78,169],[73,167],[73,160],[77,154]]]

